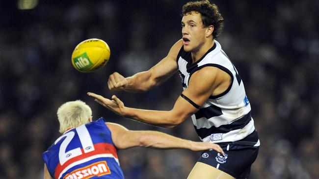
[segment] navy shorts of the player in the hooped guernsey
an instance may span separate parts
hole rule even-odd
[[[198,161],[228,173],[236,179],[247,179],[251,165],[257,158],[259,147],[231,143],[218,144],[224,150],[224,156],[214,150],[209,150],[204,151]]]

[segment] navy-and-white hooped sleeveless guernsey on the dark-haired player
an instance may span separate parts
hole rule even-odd
[[[217,67],[232,78],[227,90],[217,96],[210,96],[199,111],[191,116],[200,139],[213,143],[237,142],[259,146],[243,82],[221,45],[214,40],[213,47],[195,63],[192,63],[191,53],[186,52],[182,46],[177,56],[177,63],[184,90],[188,87],[191,75],[203,67]]]

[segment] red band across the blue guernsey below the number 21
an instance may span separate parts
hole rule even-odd
[[[97,144],[94,144],[94,149],[95,149],[94,151],[89,153],[84,153],[84,150],[81,149],[82,155],[69,159],[63,165],[58,163],[55,168],[54,178],[57,179],[60,173],[70,164],[87,157],[95,156],[98,154],[112,154],[115,158],[118,159],[116,149],[112,144],[97,143]]]

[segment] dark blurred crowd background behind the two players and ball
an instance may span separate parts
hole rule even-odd
[[[250,179],[319,179],[319,1],[213,0],[225,20],[218,41],[245,84],[261,148]],[[181,35],[185,0],[0,0],[0,179],[41,179],[42,153],[60,135],[57,108],[81,99],[95,119],[198,141],[191,120],[174,129],[122,118],[86,95],[170,110],[178,74],[146,93],[109,91],[108,76],[147,70]],[[111,57],[80,73],[71,53],[106,41]],[[125,141],[124,141],[125,142]],[[186,179],[200,152],[119,151],[126,179]]]

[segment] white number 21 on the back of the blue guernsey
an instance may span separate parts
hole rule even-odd
[[[86,126],[85,125],[79,126],[76,128],[76,131],[77,131],[78,136],[80,138],[80,143],[82,145],[84,153],[89,153],[89,152],[94,151],[95,149],[94,149],[94,145],[92,142],[92,138],[91,138]],[[62,141],[62,143],[60,145],[60,149],[59,149],[60,165],[63,165],[65,162],[67,162],[69,159],[71,159],[73,157],[77,157],[77,156],[82,155],[82,151],[81,151],[80,147],[66,152],[66,148],[68,147],[68,145],[70,144],[70,142],[72,141],[74,136],[75,136],[75,132],[71,131],[69,133],[63,134],[58,139],[56,139],[54,142],[54,145],[55,145],[63,137],[65,137],[65,139]]]

